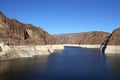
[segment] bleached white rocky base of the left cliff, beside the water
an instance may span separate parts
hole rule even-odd
[[[0,43],[0,60],[34,57],[35,55],[49,55],[55,50],[64,49],[63,45],[21,45],[8,46],[5,43]]]

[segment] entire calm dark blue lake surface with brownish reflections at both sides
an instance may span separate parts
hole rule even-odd
[[[49,56],[0,61],[0,80],[120,80],[120,56],[65,47]]]

